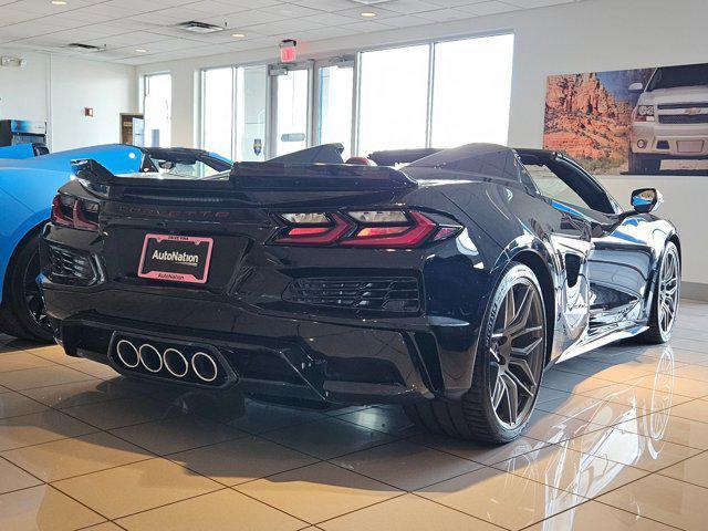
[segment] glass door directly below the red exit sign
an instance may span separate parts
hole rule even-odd
[[[311,74],[310,64],[271,69],[275,118],[272,127],[272,156],[287,155],[310,145]]]

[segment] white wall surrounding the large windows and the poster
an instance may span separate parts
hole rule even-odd
[[[386,44],[513,31],[514,70],[509,143],[540,147],[543,135],[545,79],[550,74],[700,63],[708,60],[706,0],[586,0],[530,11],[480,17],[435,25],[302,42],[301,58],[329,56]],[[296,37],[296,35],[293,35]],[[195,139],[195,76],[199,69],[277,60],[268,50],[230,53],[138,67],[138,73],[173,73],[173,138]],[[607,177],[611,192],[626,204],[633,188],[656,186],[666,198],[663,215],[678,226],[684,239],[684,279],[708,284],[708,252],[704,227],[708,178]]]

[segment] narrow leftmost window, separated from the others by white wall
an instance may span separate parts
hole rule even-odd
[[[145,145],[169,147],[171,144],[173,77],[170,74],[145,76]]]

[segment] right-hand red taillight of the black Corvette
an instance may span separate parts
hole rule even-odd
[[[456,236],[461,227],[438,223],[417,210],[281,214],[287,223],[272,240],[281,246],[412,249]]]

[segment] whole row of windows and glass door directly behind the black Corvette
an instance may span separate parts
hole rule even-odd
[[[263,160],[327,143],[343,144],[345,158],[506,144],[512,62],[513,34],[500,34],[205,70],[201,147]]]

